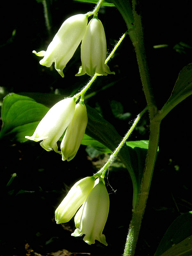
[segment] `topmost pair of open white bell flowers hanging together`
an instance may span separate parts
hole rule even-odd
[[[76,76],[85,73],[89,76],[115,74],[104,63],[107,55],[107,44],[103,25],[97,15],[94,15],[87,25],[88,17],[88,14],[77,14],[65,20],[46,51],[33,51],[37,56],[44,56],[39,63],[50,67],[55,62],[55,69],[64,77],[63,69],[82,41],[82,66]]]

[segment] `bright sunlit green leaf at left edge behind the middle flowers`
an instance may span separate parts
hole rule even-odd
[[[24,142],[25,135],[32,135],[39,121],[49,108],[37,103],[34,99],[15,93],[8,94],[2,105],[3,126],[0,139],[10,136]]]

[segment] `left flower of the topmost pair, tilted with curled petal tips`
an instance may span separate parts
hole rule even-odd
[[[82,40],[87,21],[86,14],[77,14],[65,20],[46,51],[33,51],[37,56],[44,56],[39,63],[50,67],[55,62],[55,69],[64,77],[63,69]]]

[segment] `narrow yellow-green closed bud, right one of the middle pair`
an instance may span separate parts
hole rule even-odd
[[[72,160],[81,144],[87,126],[87,110],[83,101],[76,104],[73,119],[61,141],[62,160]]]

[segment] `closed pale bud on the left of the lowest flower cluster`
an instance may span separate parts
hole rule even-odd
[[[68,222],[75,215],[94,187],[94,180],[93,176],[86,177],[73,185],[55,211],[57,224]]]

